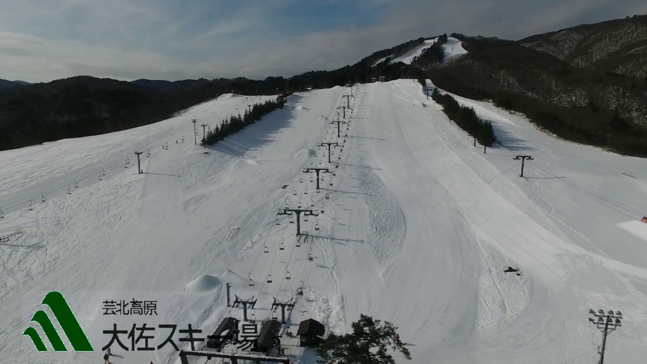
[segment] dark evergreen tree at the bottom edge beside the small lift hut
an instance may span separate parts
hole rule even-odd
[[[325,343],[316,352],[322,359],[320,364],[395,364],[388,354],[388,348],[399,351],[404,358],[411,360],[409,350],[396,339],[397,327],[385,321],[360,315],[360,319],[351,324],[351,334],[330,334]]]

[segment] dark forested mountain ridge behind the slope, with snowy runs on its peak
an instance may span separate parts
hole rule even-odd
[[[430,78],[457,95],[524,113],[564,139],[647,156],[645,65],[647,16],[634,16],[518,41],[417,38],[353,65],[290,78],[0,80],[0,135],[9,136],[0,150],[149,124],[222,93],[277,95],[385,76]]]

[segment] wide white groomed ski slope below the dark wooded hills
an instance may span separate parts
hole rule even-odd
[[[644,361],[644,159],[560,141],[457,97],[494,124],[500,144],[483,154],[413,80],[292,95],[214,147],[193,145],[192,119],[214,127],[264,98],[229,95],[133,130],[0,152],[0,236],[24,232],[0,242],[0,363],[102,363],[113,324],[192,324],[204,337],[243,316],[226,306],[226,283],[232,299],[257,300],[257,321],[272,317],[274,298],[293,299],[292,332],[308,318],[338,333],[360,313],[391,321],[413,356],[397,363],[594,363],[602,337],[589,308],[624,316],[609,362]],[[346,102],[338,138],[331,121]],[[340,145],[333,163],[322,142]],[[150,150],[144,174],[135,149]],[[515,155],[534,156],[524,177]],[[319,192],[302,173],[317,166],[334,171]],[[276,214],[298,206],[319,212],[302,217],[299,241],[291,216]],[[54,317],[39,306],[51,290],[97,352],[38,353],[21,336],[33,325],[45,337],[29,320],[39,309]],[[157,315],[104,315],[104,301],[132,299],[157,301]],[[153,347],[170,330],[150,334]],[[295,363],[316,362],[281,341]],[[115,364],[178,362],[170,345],[112,351]]]

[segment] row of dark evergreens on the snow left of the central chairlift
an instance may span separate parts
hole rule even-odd
[[[287,94],[280,95],[275,101],[267,100],[262,104],[252,106],[251,111],[245,110],[244,115],[232,115],[229,119],[225,119],[210,130],[206,137],[201,141],[202,145],[214,145],[215,143],[225,139],[229,135],[241,131],[247,126],[254,124],[258,120],[276,109],[283,109],[285,102],[287,102]]]

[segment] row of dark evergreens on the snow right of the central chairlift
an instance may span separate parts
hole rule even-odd
[[[443,106],[443,111],[447,117],[454,121],[457,126],[467,131],[472,137],[484,147],[491,147],[496,143],[496,134],[492,128],[492,122],[483,120],[476,115],[473,108],[461,106],[451,95],[443,95],[438,89],[435,89],[432,98],[438,104]]]

